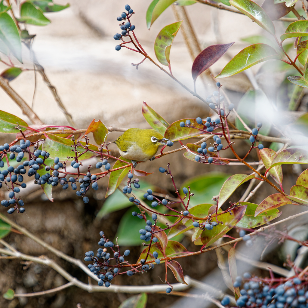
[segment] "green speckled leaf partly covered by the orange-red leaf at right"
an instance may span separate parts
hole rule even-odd
[[[236,224],[238,228],[242,229],[256,228],[266,224],[269,221],[272,221],[273,219],[279,217],[282,214],[282,212],[279,212],[278,209],[272,209],[266,211],[266,213],[261,213],[258,214],[256,217],[254,217],[256,209],[259,206],[258,204],[249,202],[237,202],[237,205],[239,203],[241,205],[247,205],[247,209],[244,217]]]

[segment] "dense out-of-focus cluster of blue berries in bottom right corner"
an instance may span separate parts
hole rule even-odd
[[[276,286],[268,285],[251,278],[249,273],[243,275],[245,283],[240,290],[241,296],[237,299],[238,307],[261,307],[261,308],[307,308],[308,291],[306,280],[298,277],[290,278],[283,284]],[[242,277],[238,276],[234,287],[240,287]],[[229,298],[223,298],[221,304],[229,305]]]

